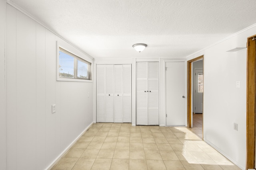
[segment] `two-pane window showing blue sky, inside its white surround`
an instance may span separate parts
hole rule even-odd
[[[59,78],[91,80],[91,63],[59,47]]]

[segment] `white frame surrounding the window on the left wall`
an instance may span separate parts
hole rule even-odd
[[[76,70],[74,66],[74,78],[68,78],[68,77],[60,77],[59,76],[59,51],[60,48],[64,49],[68,53],[73,54],[72,57],[74,57],[74,61],[80,60],[80,61],[85,61],[84,63],[87,63],[89,65],[89,79],[82,79],[82,78],[76,78]],[[87,59],[86,59],[87,58]],[[75,49],[74,47],[70,47],[70,44],[62,43],[60,41],[56,41],[56,78],[57,81],[72,81],[72,82],[92,82],[92,61],[88,61],[90,59],[88,56],[83,54],[81,51],[78,49]],[[77,66],[77,64],[76,64]]]

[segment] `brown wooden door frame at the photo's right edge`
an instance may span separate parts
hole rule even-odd
[[[256,35],[252,36],[256,37]],[[256,133],[256,40],[247,39],[246,66],[246,169],[255,168],[255,133]]]

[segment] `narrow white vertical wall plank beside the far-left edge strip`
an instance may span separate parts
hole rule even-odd
[[[6,166],[16,169],[16,9],[6,7]]]

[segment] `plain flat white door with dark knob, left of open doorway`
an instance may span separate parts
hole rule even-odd
[[[166,125],[186,125],[185,62],[166,62]]]

